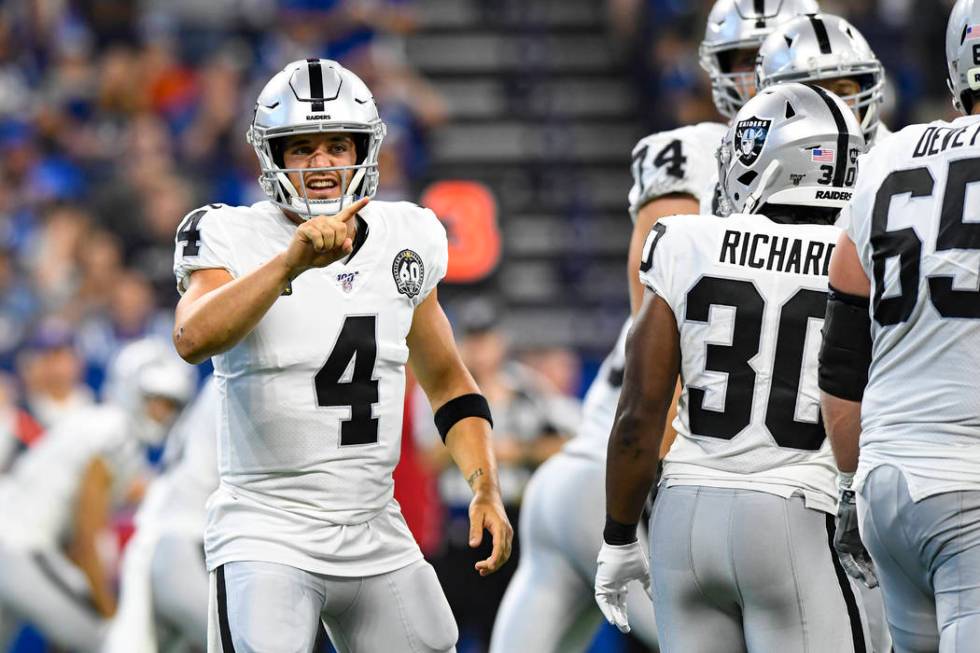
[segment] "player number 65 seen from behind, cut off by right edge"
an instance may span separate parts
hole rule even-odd
[[[820,388],[842,472],[836,545],[849,573],[877,573],[902,652],[980,641],[978,37],[980,2],[959,0],[946,60],[965,115],[861,159],[830,266]]]

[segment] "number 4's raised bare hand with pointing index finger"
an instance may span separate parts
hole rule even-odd
[[[310,268],[323,268],[354,249],[354,216],[368,203],[363,197],[336,215],[310,218],[296,228],[283,262],[290,279]]]

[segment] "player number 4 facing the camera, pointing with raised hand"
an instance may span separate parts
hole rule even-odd
[[[220,484],[208,502],[209,650],[451,650],[452,612],[397,502],[405,364],[506,562],[490,411],[460,361],[436,284],[445,229],[407,202],[371,202],[384,123],[334,61],[288,64],[248,139],[268,201],[209,205],[177,233],[174,341],[213,358]]]

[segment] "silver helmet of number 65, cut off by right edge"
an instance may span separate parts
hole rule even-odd
[[[959,0],[946,25],[946,83],[956,110],[973,112],[974,94],[980,93],[980,0]]]

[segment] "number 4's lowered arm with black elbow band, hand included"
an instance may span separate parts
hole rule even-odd
[[[463,365],[453,330],[436,291],[415,309],[408,334],[408,362],[436,416],[446,447],[473,490],[470,502],[470,546],[490,531],[493,551],[476,563],[481,576],[492,574],[510,558],[514,529],[507,519],[497,481],[489,409],[476,381]]]

